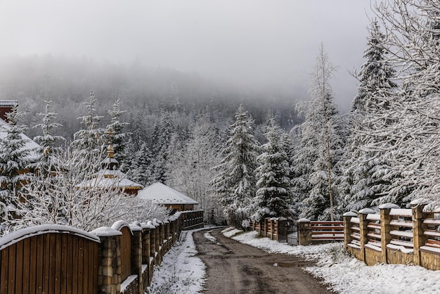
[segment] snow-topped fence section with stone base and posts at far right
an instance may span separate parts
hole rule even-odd
[[[410,209],[387,203],[380,213],[364,209],[344,214],[344,248],[365,264],[415,264],[440,269],[440,212],[423,211],[427,203],[414,201]]]

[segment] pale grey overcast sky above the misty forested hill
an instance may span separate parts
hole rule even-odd
[[[239,84],[309,87],[322,41],[339,66],[337,101],[350,103],[347,71],[363,62],[367,15],[370,0],[0,0],[0,55],[141,60]]]

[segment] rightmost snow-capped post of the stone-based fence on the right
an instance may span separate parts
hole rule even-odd
[[[420,265],[422,262],[420,247],[425,245],[425,242],[427,241],[427,236],[424,234],[426,226],[423,224],[423,219],[425,218],[423,208],[427,203],[422,202],[422,200],[415,200],[412,201],[410,205],[413,215],[414,265]]]

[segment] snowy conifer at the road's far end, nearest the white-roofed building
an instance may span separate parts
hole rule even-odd
[[[221,152],[223,159],[214,167],[218,174],[211,184],[228,224],[242,226],[242,220],[250,216],[256,192],[259,143],[254,139],[254,120],[241,105],[230,129],[231,136]]]

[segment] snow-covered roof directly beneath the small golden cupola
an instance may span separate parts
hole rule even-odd
[[[111,177],[109,177],[111,176]],[[141,184],[135,183],[127,179],[126,174],[119,170],[101,170],[96,174],[93,174],[93,179],[84,181],[77,185],[78,188],[89,188],[89,187],[102,187],[102,188],[138,188],[141,189],[143,186]]]

